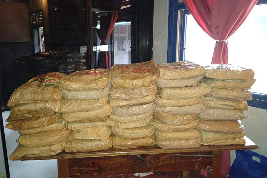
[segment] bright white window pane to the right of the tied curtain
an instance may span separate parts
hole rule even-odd
[[[257,81],[251,91],[267,93],[267,4],[255,6],[229,39],[229,64],[252,69]]]

